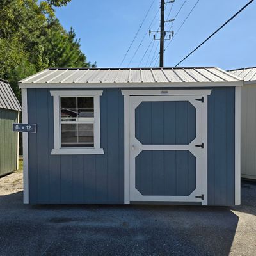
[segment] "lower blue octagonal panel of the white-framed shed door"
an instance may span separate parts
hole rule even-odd
[[[136,157],[142,195],[188,196],[196,188],[196,158],[186,150],[144,150]]]

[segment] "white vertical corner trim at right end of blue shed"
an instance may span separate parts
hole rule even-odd
[[[241,204],[241,87],[235,91],[235,205]]]

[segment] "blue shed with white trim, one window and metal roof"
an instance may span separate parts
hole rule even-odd
[[[23,79],[24,203],[240,204],[242,85],[216,67]]]

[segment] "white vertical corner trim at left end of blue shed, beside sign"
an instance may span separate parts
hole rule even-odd
[[[27,89],[23,88],[22,92],[22,122],[28,123],[28,95]],[[29,204],[29,166],[28,166],[28,132],[22,133],[23,141],[23,202]]]

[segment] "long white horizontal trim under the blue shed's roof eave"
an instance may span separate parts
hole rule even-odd
[[[19,83],[19,88],[184,88],[235,87],[243,81],[230,82],[168,82],[168,83]]]

